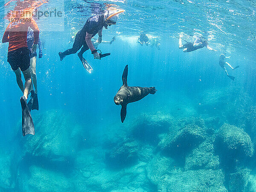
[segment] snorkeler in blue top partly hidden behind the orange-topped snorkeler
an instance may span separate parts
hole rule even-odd
[[[34,43],[34,31],[29,27],[28,34],[27,34],[27,45],[29,50],[31,51],[32,45]],[[38,38],[38,48],[39,48],[39,55],[38,58],[42,58],[43,53],[42,53],[42,46],[41,46],[41,40]],[[36,51],[30,53],[30,73],[32,76],[32,83],[31,83],[31,99],[28,102],[28,108],[29,111],[31,110],[38,110],[38,89],[37,89],[37,78],[36,78],[36,73],[35,73],[35,68],[36,68]],[[33,84],[35,87],[35,91],[33,90]]]

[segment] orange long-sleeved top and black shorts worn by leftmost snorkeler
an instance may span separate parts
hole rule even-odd
[[[14,19],[4,32],[3,39],[6,40],[5,42],[9,42],[7,61],[14,71],[19,67],[21,71],[25,71],[30,66],[30,51],[27,46],[29,27],[34,31],[34,44],[38,44],[39,29],[32,17]]]

